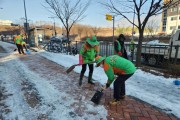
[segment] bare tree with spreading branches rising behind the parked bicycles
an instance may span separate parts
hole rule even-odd
[[[57,16],[66,29],[66,35],[69,34],[72,26],[82,20],[87,10],[90,0],[45,0],[50,6],[48,9],[53,15]]]

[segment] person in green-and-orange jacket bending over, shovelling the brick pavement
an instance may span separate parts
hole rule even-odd
[[[96,67],[102,65],[108,77],[106,86],[103,89],[107,89],[114,81],[114,99],[110,104],[114,105],[119,103],[120,99],[125,98],[125,81],[136,71],[134,64],[118,55],[109,57],[98,56],[95,61]],[[117,78],[115,78],[115,75],[117,75]]]

